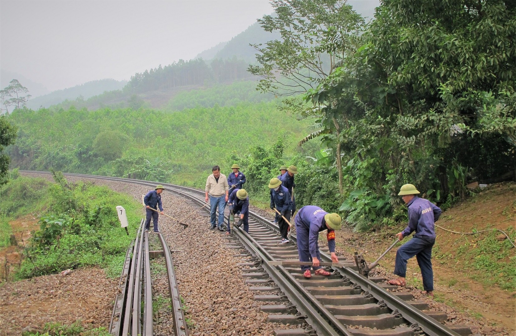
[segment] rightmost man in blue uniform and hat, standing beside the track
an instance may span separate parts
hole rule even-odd
[[[409,224],[405,230],[396,234],[401,241],[410,233],[415,231],[414,236],[407,243],[401,245],[396,252],[394,274],[399,278],[390,280],[389,283],[398,286],[405,286],[405,275],[407,272],[407,260],[416,256],[417,264],[421,268],[423,277],[423,293],[433,296],[433,271],[432,271],[432,247],[436,242],[435,222],[441,216],[442,210],[429,200],[417,197],[414,184],[404,184],[398,193],[405,204],[409,207]]]

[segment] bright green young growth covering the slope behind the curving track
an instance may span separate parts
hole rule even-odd
[[[20,109],[9,116],[20,127],[9,147],[13,166],[169,181],[173,174],[227,169],[228,154],[246,155],[251,145],[268,145],[286,134],[301,138],[297,122],[275,103],[235,107],[97,111]],[[44,129],[44,132],[40,130]]]

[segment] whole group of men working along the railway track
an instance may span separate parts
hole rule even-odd
[[[249,232],[249,196],[243,188],[246,183],[246,176],[240,172],[238,164],[231,166],[233,172],[226,177],[220,173],[218,165],[213,166],[212,174],[206,179],[205,201],[210,204],[210,222],[211,229],[218,227],[220,231],[224,231],[224,208],[228,204],[231,215],[239,217],[237,224],[240,227],[244,225],[244,230]],[[270,189],[270,208],[275,210],[275,223],[278,223],[281,233],[281,243],[288,243],[288,230],[292,216],[296,212],[296,202],[294,196],[294,178],[297,174],[297,167],[281,166],[278,177],[272,178],[269,182]],[[160,193],[163,186],[159,185],[155,190],[151,190],[145,197],[144,203],[147,206],[146,228],[149,229],[151,216],[153,217],[154,231],[157,231],[157,211],[149,210],[151,205],[159,208],[163,214]],[[408,206],[409,223],[405,230],[396,234],[401,241],[404,237],[415,231],[413,238],[398,248],[396,252],[396,261],[394,274],[398,275],[398,279],[390,280],[393,285],[405,286],[405,275],[407,270],[408,259],[416,256],[417,263],[421,268],[423,277],[424,293],[433,296],[433,272],[431,263],[432,247],[436,240],[436,232],[434,223],[441,215],[441,209],[432,204],[429,200],[417,196],[417,191],[413,184],[405,184],[400,188],[399,196]],[[216,211],[219,211],[218,219]],[[330,275],[330,272],[321,268],[319,245],[317,243],[319,232],[327,230],[328,248],[330,250],[332,262],[337,263],[338,258],[335,254],[335,230],[342,227],[341,216],[337,213],[328,213],[321,208],[313,205],[304,206],[294,217],[296,228],[296,239],[299,260],[307,262],[301,266],[303,276],[310,278],[313,268],[317,275]],[[228,219],[228,225],[225,229],[226,234],[231,233],[233,223]],[[310,263],[312,266],[310,266]]]

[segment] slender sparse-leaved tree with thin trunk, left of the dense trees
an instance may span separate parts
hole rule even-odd
[[[250,65],[249,71],[261,77],[258,89],[275,95],[304,94],[314,90],[321,80],[330,76],[348,55],[356,52],[362,43],[360,33],[364,19],[343,0],[275,0],[276,15],[265,15],[259,20],[269,32],[279,32],[281,40],[272,40],[266,46],[254,45],[259,65]],[[310,138],[331,133],[325,143],[335,147],[339,190],[343,193],[341,162],[341,124],[334,103],[325,102],[314,109],[296,98],[285,101],[287,110],[302,118],[316,118],[322,129]]]

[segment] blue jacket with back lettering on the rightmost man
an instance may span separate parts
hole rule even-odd
[[[414,196],[408,204],[409,206],[409,225],[403,230],[403,237],[407,237],[412,231],[416,231],[416,236],[426,236],[436,239],[437,222],[441,215],[441,208],[434,205],[428,199]]]

